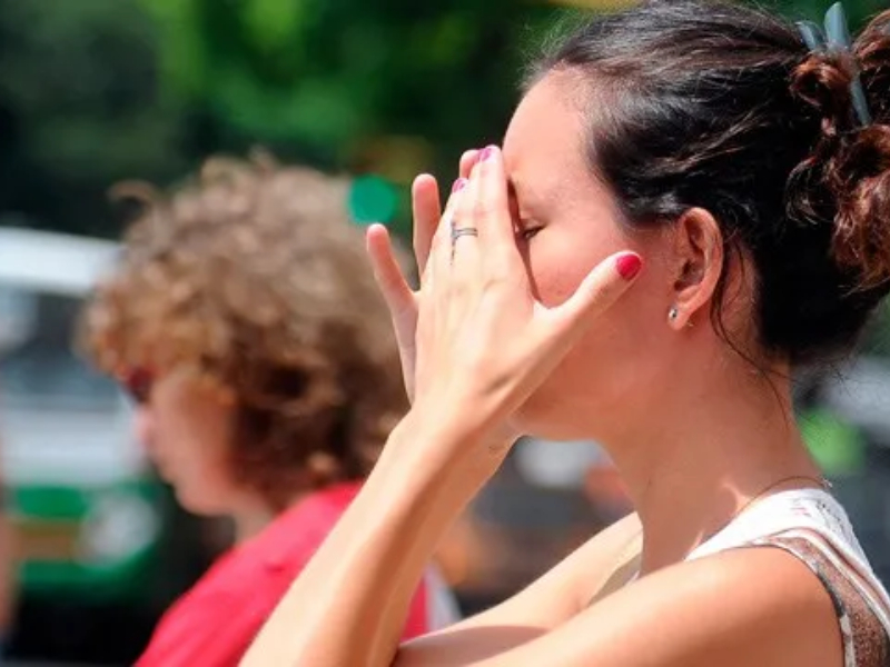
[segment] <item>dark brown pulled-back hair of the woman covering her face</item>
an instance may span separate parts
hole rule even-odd
[[[693,207],[726,261],[750,258],[763,351],[792,364],[848,351],[890,289],[890,12],[852,52],[708,0],[644,2],[585,22],[534,68],[587,90],[589,157],[633,226]],[[874,122],[860,127],[861,78]],[[721,313],[726,271],[712,319]],[[736,348],[738,349],[738,348]]]

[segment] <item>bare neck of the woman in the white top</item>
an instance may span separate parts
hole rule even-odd
[[[622,434],[610,447],[643,524],[644,573],[683,560],[768,492],[821,480],[790,381],[726,355],[674,374],[676,389],[646,408],[657,430]]]

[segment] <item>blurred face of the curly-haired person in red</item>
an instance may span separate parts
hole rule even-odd
[[[233,409],[218,390],[187,372],[157,377],[137,408],[137,437],[180,505],[226,515],[240,491],[231,475]]]

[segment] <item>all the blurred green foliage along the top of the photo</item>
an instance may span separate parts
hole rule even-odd
[[[848,0],[854,21],[883,0]],[[828,7],[784,0],[819,18]],[[117,235],[105,193],[260,143],[404,186],[497,141],[533,0],[0,0],[0,223]],[[405,198],[399,201],[405,210]],[[404,223],[406,216],[402,217]]]

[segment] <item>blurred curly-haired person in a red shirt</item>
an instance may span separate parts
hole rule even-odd
[[[144,208],[87,310],[88,349],[181,505],[237,537],[137,664],[236,665],[404,414],[398,349],[345,180],[216,159],[172,197],[120,193]],[[455,616],[429,569],[404,637]]]

